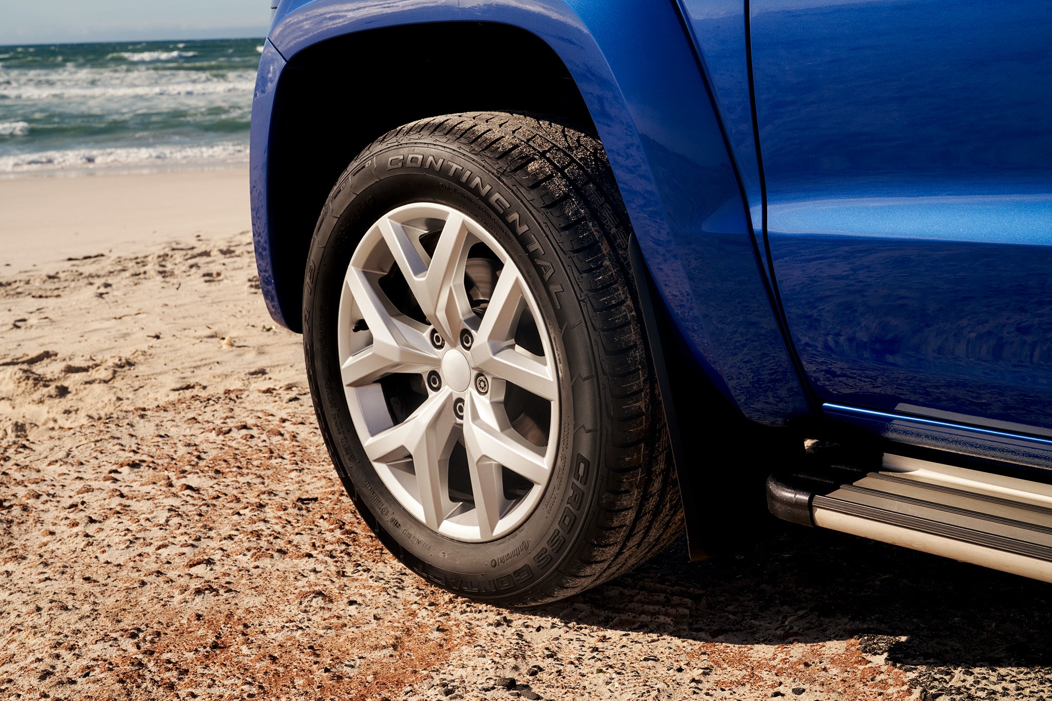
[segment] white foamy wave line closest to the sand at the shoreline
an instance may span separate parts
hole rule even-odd
[[[248,158],[243,143],[211,146],[155,146],[137,148],[77,148],[0,157],[0,173],[97,168],[115,166],[156,166],[182,163],[236,163]]]

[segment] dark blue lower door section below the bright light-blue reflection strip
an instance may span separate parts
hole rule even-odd
[[[772,238],[815,393],[1052,426],[1052,250],[864,235]]]

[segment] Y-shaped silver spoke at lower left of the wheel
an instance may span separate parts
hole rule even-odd
[[[424,522],[438,530],[446,516],[449,453],[457,440],[452,395],[441,391],[430,396],[398,426],[381,431],[363,448],[376,462],[412,458]]]

